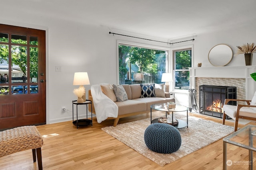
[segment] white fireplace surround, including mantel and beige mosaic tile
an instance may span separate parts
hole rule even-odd
[[[256,91],[256,82],[250,74],[256,66],[243,67],[192,67],[190,68],[191,88],[196,89],[196,103],[199,105],[199,86],[235,86],[237,99],[251,100]]]

